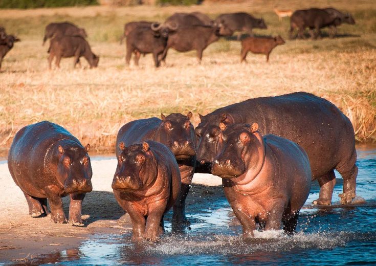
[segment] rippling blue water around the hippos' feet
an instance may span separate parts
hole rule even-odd
[[[242,240],[241,226],[222,189],[195,185],[188,196],[190,230],[171,233],[169,212],[166,234],[158,243],[135,245],[131,233],[96,235],[78,249],[42,256],[38,261],[60,265],[375,265],[376,148],[358,147],[357,165],[357,195],[366,203],[339,205],[343,182],[337,179],[334,204],[314,207],[310,203],[319,193],[314,183],[292,237],[272,231],[256,232],[255,238]]]

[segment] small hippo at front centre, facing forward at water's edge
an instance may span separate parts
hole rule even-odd
[[[132,239],[156,241],[164,232],[163,215],[180,193],[180,172],[171,150],[145,141],[118,145],[118,166],[112,188],[119,205],[129,214]]]

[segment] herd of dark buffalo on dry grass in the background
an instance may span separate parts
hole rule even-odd
[[[298,31],[298,37],[304,37],[304,30],[309,29],[313,39],[320,37],[320,29],[328,27],[329,36],[334,37],[337,27],[343,23],[355,24],[355,20],[348,13],[342,13],[334,8],[311,8],[292,12],[290,19],[290,38],[294,38],[294,31]],[[255,37],[253,29],[267,29],[262,18],[255,18],[251,14],[238,12],[219,15],[212,20],[200,12],[174,13],[164,23],[153,21],[131,21],[125,24],[124,34],[120,43],[126,38],[126,65],[129,65],[132,54],[135,65],[138,65],[141,54],[153,55],[154,65],[160,66],[166,62],[167,52],[173,48],[179,52],[196,51],[198,62],[201,62],[203,51],[220,37],[230,37],[238,32],[250,36],[241,41],[240,62],[245,61],[247,53],[264,54],[269,62],[269,55],[277,45],[283,45],[285,41],[277,37]],[[51,39],[49,53],[49,68],[56,57],[56,67],[59,68],[60,59],[74,57],[73,67],[80,64],[83,56],[90,68],[98,66],[99,57],[95,55],[87,40],[86,31],[69,23],[51,23],[46,27],[43,45],[47,39]],[[4,28],[0,27],[0,67],[1,60],[13,47],[18,38],[7,35]]]

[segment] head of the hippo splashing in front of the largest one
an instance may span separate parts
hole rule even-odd
[[[265,152],[258,124],[226,126],[220,123],[219,127],[219,152],[212,164],[212,174],[221,178],[236,178],[249,169],[261,169]]]

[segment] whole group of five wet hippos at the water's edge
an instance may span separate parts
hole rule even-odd
[[[200,114],[199,114],[200,115]],[[132,239],[156,241],[164,214],[190,224],[185,200],[195,172],[222,178],[225,195],[244,238],[259,230],[295,231],[311,181],[318,180],[317,205],[330,205],[342,175],[342,204],[356,196],[357,152],[349,119],[332,103],[298,92],[248,99],[214,110],[196,128],[192,113],[161,115],[123,125],[116,139],[112,188],[129,214]],[[32,217],[82,226],[85,193],[93,189],[89,152],[63,127],[43,121],[21,128],[8,167],[24,192]],[[69,217],[61,197],[70,195]]]

